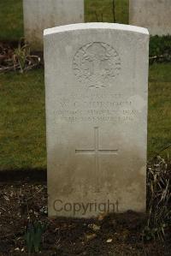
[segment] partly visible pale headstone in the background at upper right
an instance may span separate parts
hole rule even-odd
[[[151,35],[171,34],[171,1],[129,0],[129,24],[147,27]]]

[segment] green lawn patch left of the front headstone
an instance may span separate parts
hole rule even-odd
[[[44,70],[0,74],[0,170],[45,168]]]

